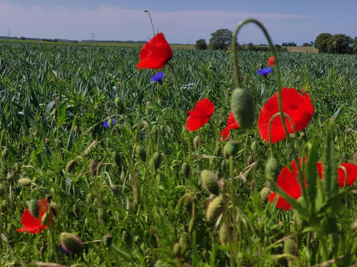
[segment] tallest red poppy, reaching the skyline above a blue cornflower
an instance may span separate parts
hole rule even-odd
[[[166,41],[164,34],[156,34],[141,49],[139,59],[136,64],[142,69],[162,69],[172,58],[172,50]]]

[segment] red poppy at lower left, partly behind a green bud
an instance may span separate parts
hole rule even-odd
[[[21,217],[21,223],[25,226],[20,229],[17,229],[16,232],[29,232],[29,233],[40,233],[44,229],[47,229],[47,225],[42,225],[41,223],[41,218],[46,213],[49,211],[49,204],[46,198],[42,198],[39,201],[40,205],[40,217],[36,218],[31,215],[29,209],[26,209],[24,213],[22,213]],[[51,222],[51,216],[49,215],[49,224],[52,225]]]

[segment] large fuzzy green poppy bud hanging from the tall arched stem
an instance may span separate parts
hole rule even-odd
[[[236,88],[232,93],[231,110],[241,129],[253,126],[255,106],[253,97],[247,89]]]

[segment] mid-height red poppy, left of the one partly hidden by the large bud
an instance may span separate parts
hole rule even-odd
[[[213,112],[215,111],[215,105],[208,100],[208,98],[203,98],[197,101],[193,110],[187,110],[188,117],[186,121],[186,127],[188,131],[192,132],[200,129],[205,125],[211,118]]]

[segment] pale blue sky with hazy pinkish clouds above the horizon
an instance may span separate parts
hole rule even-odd
[[[15,36],[62,39],[147,40],[155,30],[171,43],[207,40],[211,32],[233,30],[240,20],[254,17],[263,22],[274,43],[315,40],[321,32],[357,36],[356,0],[0,0],[0,35],[7,26]],[[240,43],[266,43],[255,26],[245,27]]]

